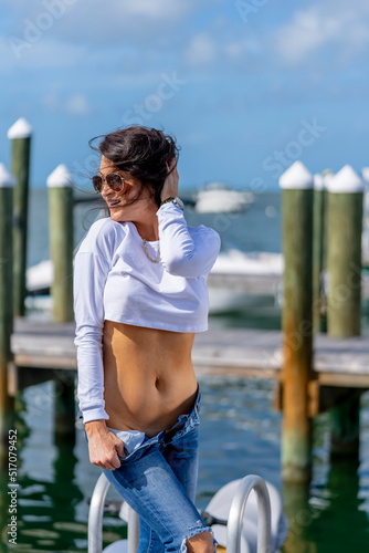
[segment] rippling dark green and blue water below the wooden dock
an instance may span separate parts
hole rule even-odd
[[[201,449],[197,505],[204,509],[230,480],[257,473],[283,493],[291,532],[286,553],[369,551],[369,395],[362,396],[358,462],[329,462],[327,415],[315,421],[309,489],[282,487],[281,416],[271,409],[265,380],[202,377]],[[88,498],[99,476],[89,463],[84,434],[54,435],[52,383],[32,386],[17,400],[18,529],[15,551],[86,551]],[[2,551],[9,522],[8,478],[1,472]],[[114,490],[108,499],[118,499]],[[104,546],[126,535],[116,514],[104,518]]]

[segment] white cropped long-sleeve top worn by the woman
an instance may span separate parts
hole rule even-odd
[[[104,321],[173,332],[208,330],[207,276],[220,250],[213,229],[188,227],[172,202],[157,211],[159,240],[147,242],[133,222],[99,219],[74,262],[77,396],[83,421],[108,419],[104,400]],[[159,246],[160,244],[160,246]]]

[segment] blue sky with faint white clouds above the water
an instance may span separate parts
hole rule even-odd
[[[182,188],[369,166],[367,0],[1,0],[0,15],[0,161],[25,117],[32,186],[62,163],[88,186],[88,139],[133,124],[176,136]]]

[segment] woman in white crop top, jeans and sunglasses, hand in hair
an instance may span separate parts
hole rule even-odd
[[[129,127],[98,149],[93,184],[109,218],[91,227],[74,269],[89,460],[138,513],[139,552],[212,553],[193,505],[200,392],[191,349],[208,327],[220,238],[186,223],[173,138]]]

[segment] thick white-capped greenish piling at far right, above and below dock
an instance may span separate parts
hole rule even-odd
[[[328,334],[359,336],[361,331],[361,234],[363,182],[346,165],[327,184],[328,190]],[[359,453],[360,393],[347,390],[330,411],[330,452]]]

